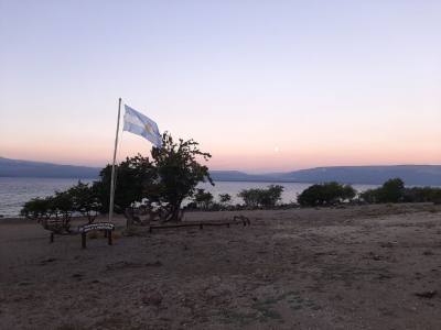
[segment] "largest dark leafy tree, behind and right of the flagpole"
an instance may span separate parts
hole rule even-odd
[[[194,140],[175,142],[164,133],[162,146],[152,147],[151,158],[137,155],[118,165],[115,211],[122,213],[133,202],[148,199],[161,205],[163,221],[179,221],[182,201],[193,197],[197,184],[213,184],[208,167],[201,164],[208,158],[211,154],[202,152]],[[103,211],[109,207],[110,176],[111,166],[107,165],[100,173],[100,180],[95,183]]]

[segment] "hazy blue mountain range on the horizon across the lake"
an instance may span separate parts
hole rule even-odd
[[[0,177],[96,178],[100,168],[0,157]],[[331,166],[287,173],[211,170],[215,182],[323,183],[380,185],[400,177],[407,185],[441,186],[441,165]]]

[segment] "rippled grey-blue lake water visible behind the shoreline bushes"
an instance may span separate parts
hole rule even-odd
[[[83,180],[88,183],[90,180]],[[61,178],[9,178],[0,177],[0,216],[15,217],[20,213],[23,204],[31,198],[45,197],[54,194],[56,190],[64,190],[77,183],[77,179]],[[213,187],[211,185],[201,185],[211,191],[215,199],[219,194],[232,195],[233,204],[240,204],[241,199],[237,194],[241,189],[262,188],[270,185],[269,183],[237,183],[237,182],[219,182]],[[278,184],[284,187],[282,195],[283,202],[295,201],[298,194],[302,193],[311,184],[283,183]],[[376,186],[354,185],[354,188],[363,191]]]

